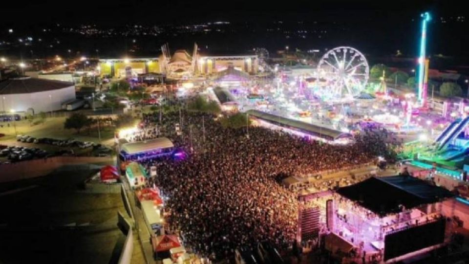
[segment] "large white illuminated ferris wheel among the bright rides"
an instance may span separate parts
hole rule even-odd
[[[354,97],[365,88],[369,77],[365,56],[353,47],[336,47],[324,54],[318,64],[320,79],[334,98]]]

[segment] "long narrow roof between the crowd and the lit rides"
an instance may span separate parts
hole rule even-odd
[[[341,137],[350,136],[349,133],[344,133],[344,132],[341,132],[335,129],[326,128],[326,127],[316,126],[313,124],[285,118],[279,115],[270,114],[270,113],[262,112],[259,110],[248,110],[246,111],[246,113],[254,117],[263,119],[265,121],[271,122],[271,123],[275,123],[275,124],[279,124],[283,126],[289,126],[289,127],[298,129],[302,132],[313,133],[319,137],[330,139],[330,140],[335,140]]]

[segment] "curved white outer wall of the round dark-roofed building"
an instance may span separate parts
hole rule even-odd
[[[34,113],[61,110],[62,103],[76,98],[75,86],[35,93],[4,94],[3,96],[5,99],[2,103],[5,103],[6,111],[21,112],[32,108]]]

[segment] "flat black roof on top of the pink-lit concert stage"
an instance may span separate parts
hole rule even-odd
[[[412,176],[371,177],[339,188],[337,193],[379,216],[401,212],[400,205],[409,209],[453,196],[444,188]]]

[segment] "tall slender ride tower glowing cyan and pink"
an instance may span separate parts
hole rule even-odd
[[[419,85],[419,94],[418,99],[422,106],[426,106],[426,78],[428,76],[425,74],[426,68],[426,24],[430,21],[430,14],[428,12],[420,15],[422,17],[422,36],[420,38],[420,57],[419,57],[419,72],[418,72],[418,85]],[[427,69],[428,70],[428,69]]]

